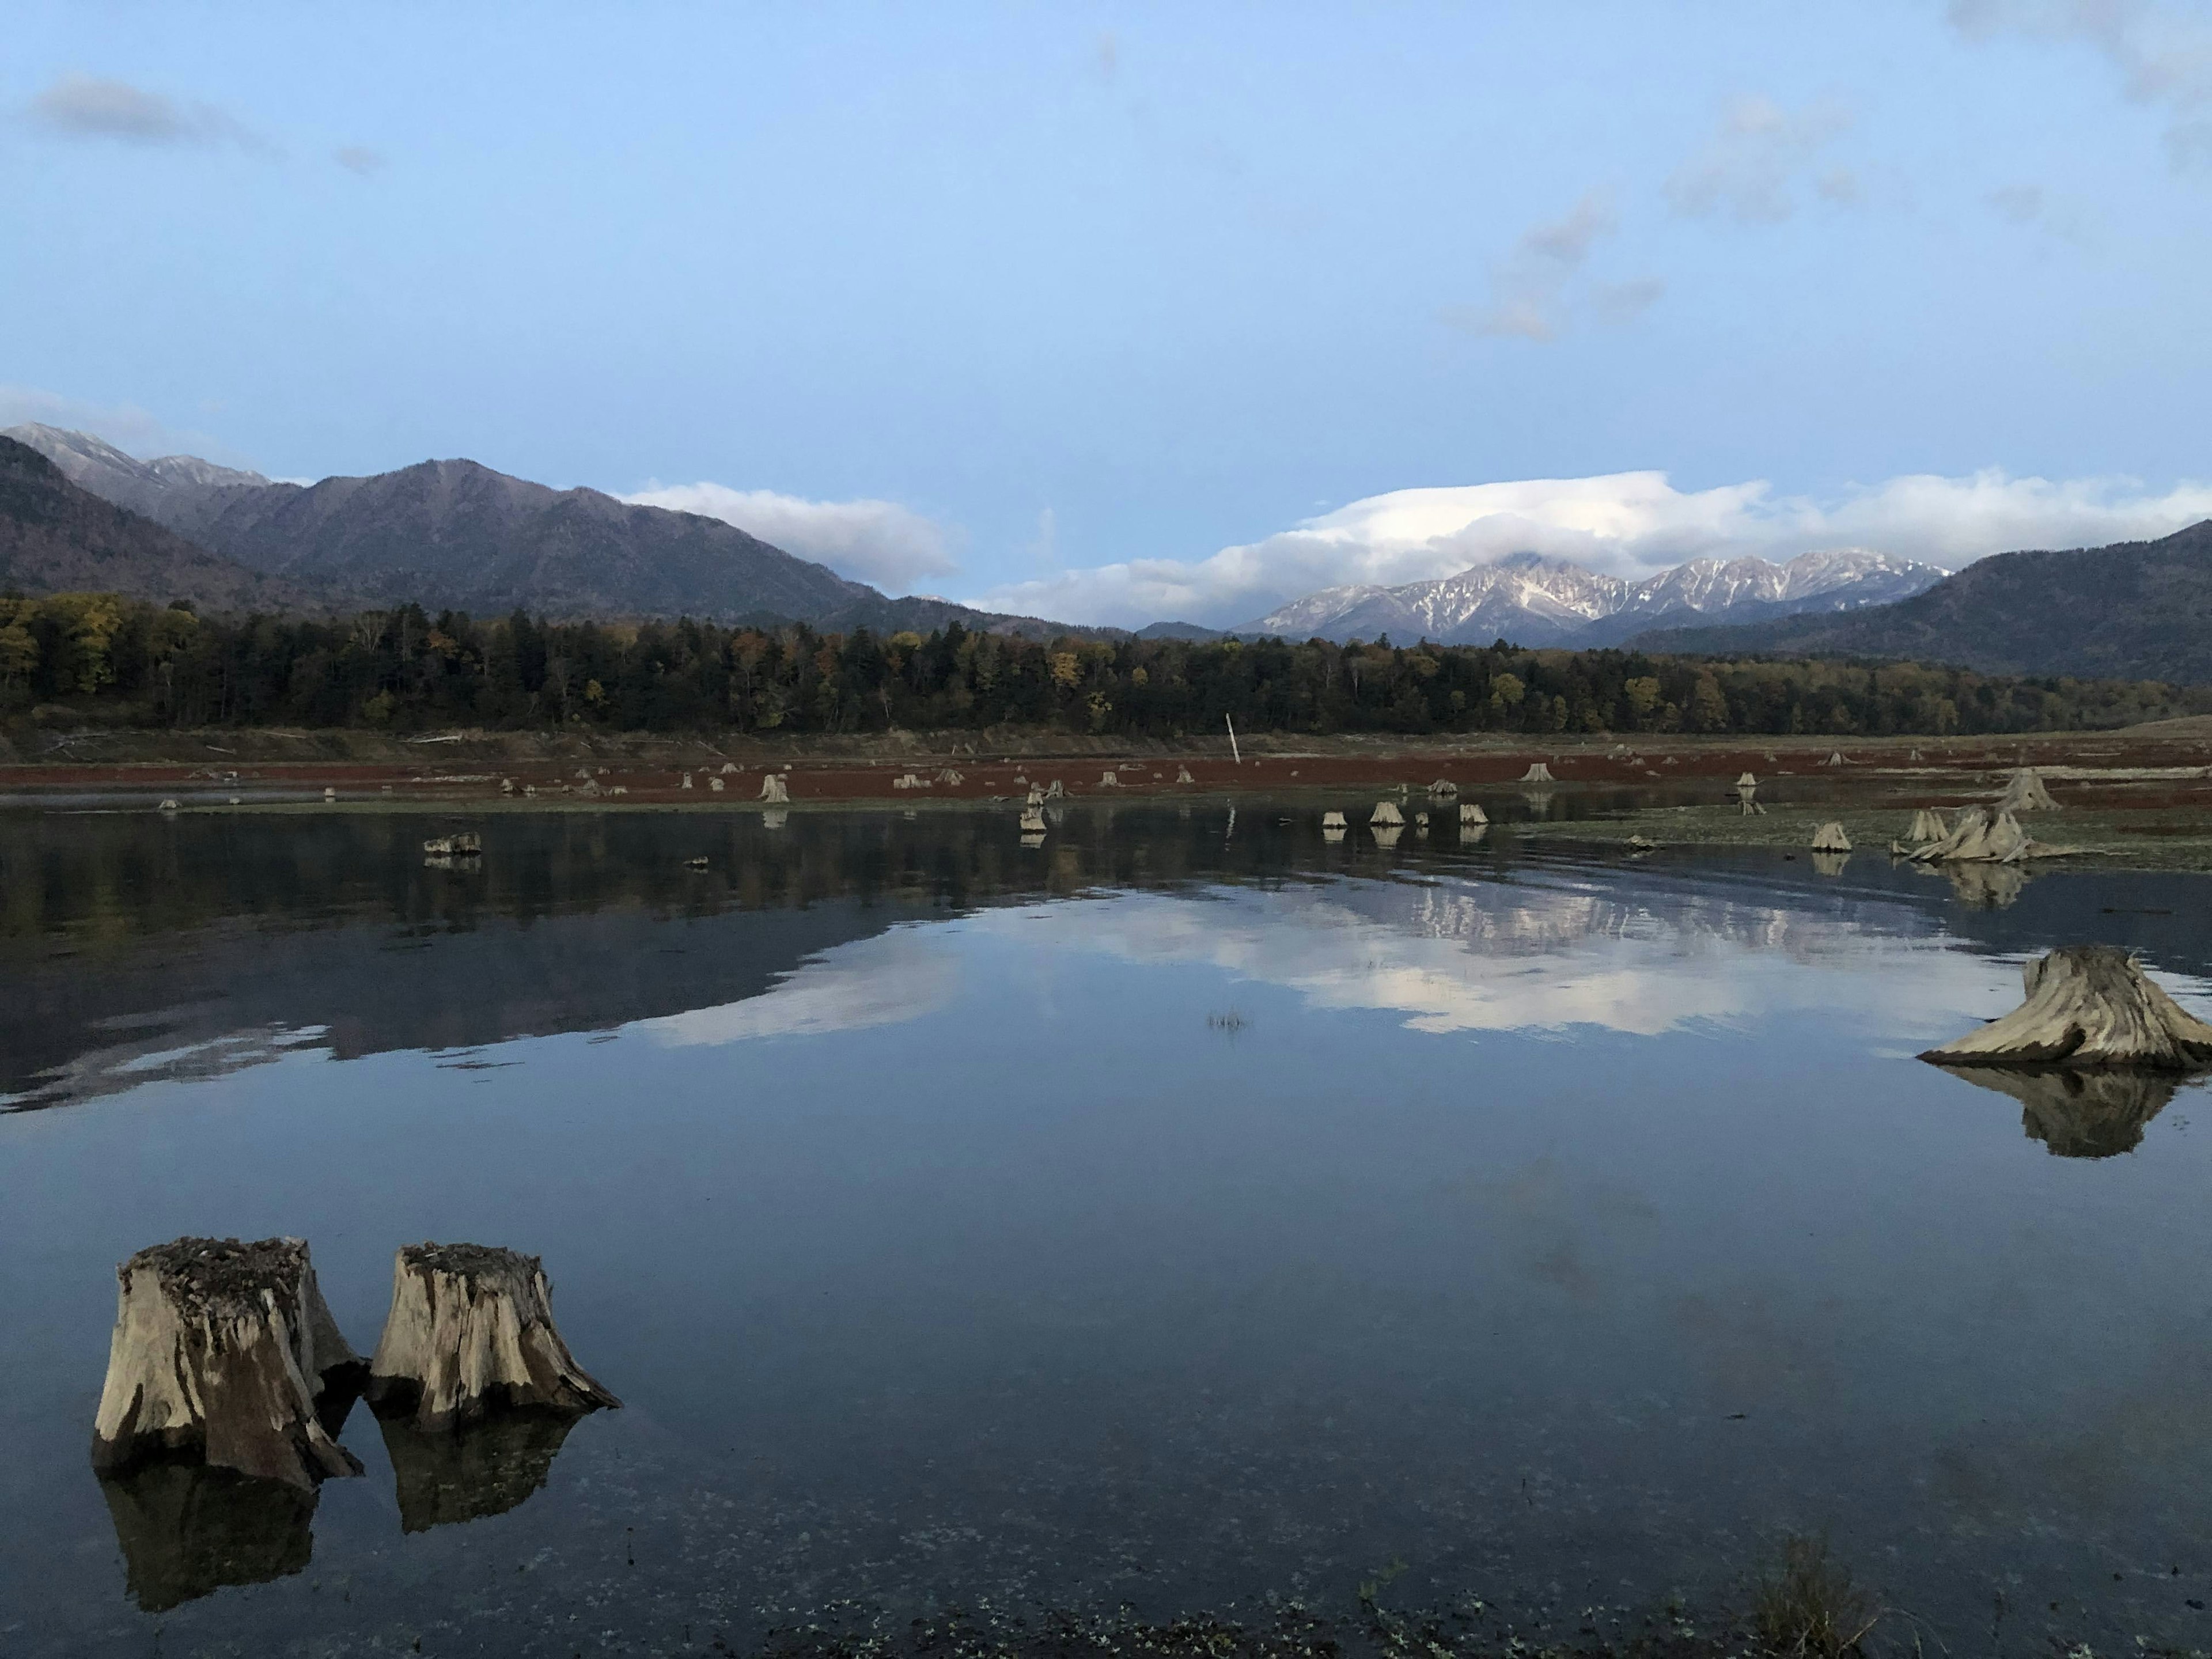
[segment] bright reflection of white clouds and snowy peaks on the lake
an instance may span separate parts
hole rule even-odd
[[[1312,1009],[1402,1013],[1407,1029],[1429,1033],[1657,1035],[1805,1009],[1913,1031],[1989,1002],[1989,958],[1936,933],[1924,911],[1858,916],[1765,898],[1657,878],[1113,894],[896,929],[812,958],[765,995],[646,1024],[668,1044],[697,1044],[916,1020],[956,998],[962,933],[1137,967],[1203,964]],[[2159,978],[2181,995],[2203,991]]]

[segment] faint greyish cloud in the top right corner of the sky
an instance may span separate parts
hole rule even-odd
[[[1971,40],[2002,33],[2084,40],[2104,53],[2130,102],[2166,108],[2177,168],[2212,161],[2212,13],[2157,0],[1951,0]]]

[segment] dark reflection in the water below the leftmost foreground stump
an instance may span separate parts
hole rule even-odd
[[[314,1551],[316,1493],[283,1480],[170,1460],[100,1475],[100,1491],[131,1599],[146,1613],[288,1577]]]

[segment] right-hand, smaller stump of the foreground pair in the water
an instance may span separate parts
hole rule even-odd
[[[622,1405],[553,1329],[553,1287],[538,1256],[467,1243],[405,1245],[392,1263],[392,1312],[369,1360],[369,1400],[383,1411],[409,1398],[422,1429],[502,1405]]]

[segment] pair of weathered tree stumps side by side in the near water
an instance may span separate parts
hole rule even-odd
[[[622,1405],[568,1354],[538,1256],[407,1245],[392,1312],[363,1360],[338,1332],[303,1239],[177,1239],[119,1281],[93,1464],[159,1453],[312,1491],[358,1475],[336,1442],[358,1394],[378,1416],[451,1429],[502,1407],[582,1413]]]

